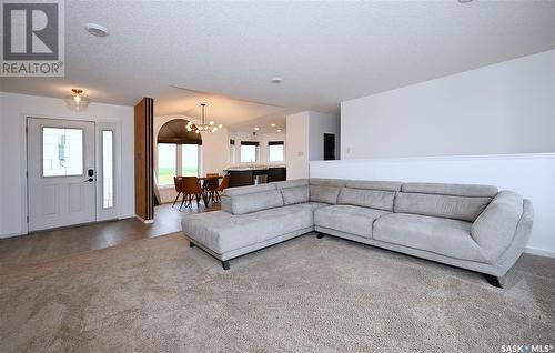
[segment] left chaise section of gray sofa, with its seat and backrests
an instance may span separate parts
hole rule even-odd
[[[182,229],[228,270],[231,259],[314,231],[314,210],[323,205],[310,202],[307,180],[232,188],[222,211],[186,215]]]

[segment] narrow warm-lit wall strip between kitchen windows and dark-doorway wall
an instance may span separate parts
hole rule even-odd
[[[286,117],[287,180],[309,176],[309,112]]]

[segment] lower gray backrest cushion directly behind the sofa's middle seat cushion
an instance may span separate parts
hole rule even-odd
[[[337,204],[352,204],[384,211],[393,211],[395,192],[367,189],[341,189]]]

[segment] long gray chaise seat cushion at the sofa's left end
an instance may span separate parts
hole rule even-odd
[[[313,211],[301,205],[248,214],[206,212],[186,215],[182,221],[185,235],[218,254],[313,226]]]

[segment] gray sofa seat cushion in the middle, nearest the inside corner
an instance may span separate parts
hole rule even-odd
[[[390,213],[346,204],[331,205],[314,212],[314,225],[372,238],[372,223],[377,218]]]

